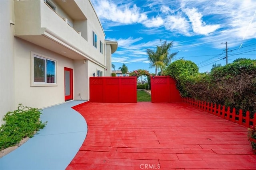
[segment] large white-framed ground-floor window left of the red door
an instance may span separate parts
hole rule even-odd
[[[34,55],[34,83],[56,83],[56,61]]]

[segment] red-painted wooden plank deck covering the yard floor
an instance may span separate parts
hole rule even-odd
[[[72,169],[256,169],[247,128],[184,103],[89,103]]]

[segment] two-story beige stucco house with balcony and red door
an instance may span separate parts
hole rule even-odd
[[[117,47],[90,0],[1,0],[0,125],[20,103],[90,100],[89,77],[111,76]]]

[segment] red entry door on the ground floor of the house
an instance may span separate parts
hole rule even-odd
[[[73,99],[73,70],[64,67],[65,101]]]

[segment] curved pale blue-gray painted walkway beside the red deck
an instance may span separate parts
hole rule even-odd
[[[38,134],[0,158],[0,170],[64,170],[81,147],[87,123],[70,101],[43,109],[41,120],[48,121]]]

